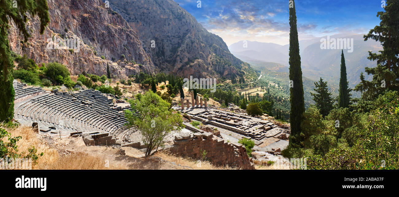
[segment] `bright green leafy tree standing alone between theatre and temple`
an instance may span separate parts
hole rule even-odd
[[[152,150],[164,147],[165,138],[172,131],[180,131],[184,128],[182,116],[173,113],[170,103],[163,100],[156,93],[147,91],[141,99],[129,100],[131,106],[135,106],[138,116],[134,116],[130,110],[125,111],[128,124],[136,126],[142,135],[142,141],[147,146],[145,156],[150,156]]]

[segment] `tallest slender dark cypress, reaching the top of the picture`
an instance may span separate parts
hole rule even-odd
[[[301,132],[300,124],[305,112],[305,102],[303,97],[302,69],[299,55],[298,30],[296,28],[296,11],[294,0],[290,1],[290,80],[293,87],[290,88],[290,123],[291,136],[290,145],[293,147],[303,147],[304,134]]]

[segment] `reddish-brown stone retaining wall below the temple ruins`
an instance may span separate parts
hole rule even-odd
[[[242,144],[229,143],[209,132],[176,134],[174,145],[167,150],[172,154],[194,159],[203,159],[202,153],[205,150],[206,160],[214,165],[255,169]]]

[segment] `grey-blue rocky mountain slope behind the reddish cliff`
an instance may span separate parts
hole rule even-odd
[[[162,71],[182,77],[219,77],[248,66],[221,37],[207,32],[173,0],[113,0],[111,8],[138,32],[144,50]]]

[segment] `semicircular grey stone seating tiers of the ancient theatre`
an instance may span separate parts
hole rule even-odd
[[[40,87],[26,87],[14,81],[16,96],[35,94],[27,99],[18,99],[14,105],[15,118],[32,125],[55,128],[56,132],[108,132],[117,136],[129,130],[124,110],[130,107],[115,107],[113,99],[100,91],[88,89],[68,93],[50,93]]]

